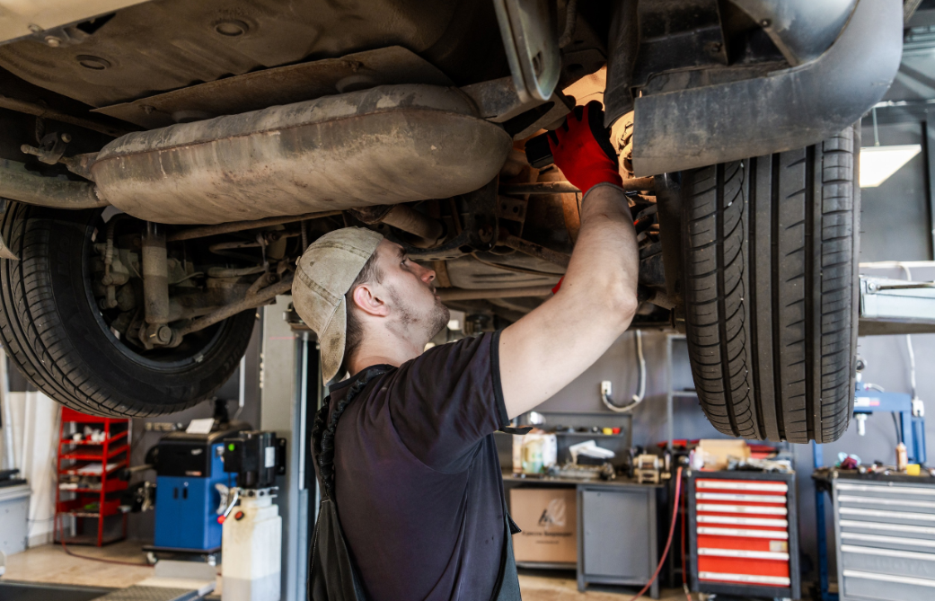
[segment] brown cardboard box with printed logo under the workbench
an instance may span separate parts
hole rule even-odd
[[[513,489],[510,514],[523,530],[513,535],[517,562],[578,561],[578,504],[574,488]]]

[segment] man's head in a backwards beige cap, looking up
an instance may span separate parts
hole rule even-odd
[[[311,244],[298,262],[293,301],[319,336],[324,380],[362,351],[397,356],[387,354],[392,346],[416,356],[448,322],[434,279],[434,271],[370,230],[344,228]]]

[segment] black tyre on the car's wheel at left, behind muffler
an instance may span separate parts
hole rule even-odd
[[[120,341],[91,290],[101,210],[7,202],[0,232],[20,260],[0,260],[0,339],[40,391],[95,415],[145,417],[189,408],[230,378],[256,321],[244,311],[158,357]]]

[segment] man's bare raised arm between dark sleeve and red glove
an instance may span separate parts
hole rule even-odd
[[[598,185],[584,196],[561,289],[500,335],[500,381],[511,419],[580,376],[626,331],[637,310],[638,270],[626,196]]]

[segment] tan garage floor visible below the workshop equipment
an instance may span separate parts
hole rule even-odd
[[[139,541],[123,541],[100,549],[69,547],[69,550],[91,557],[142,564],[143,554],[139,551],[139,547]],[[123,588],[151,576],[152,568],[146,565],[94,562],[66,555],[59,546],[43,545],[7,557],[7,574],[0,579],[0,582],[7,580]],[[520,575],[520,587],[524,601],[628,601],[629,597],[636,593],[635,589],[616,588],[613,589],[615,592],[579,593],[575,580],[564,574],[530,573],[529,571]],[[221,578],[219,576],[218,588],[211,596],[214,597],[220,593]],[[649,599],[648,596],[640,598]],[[662,594],[662,599],[667,601],[683,598],[684,595],[679,590],[665,591]]]

